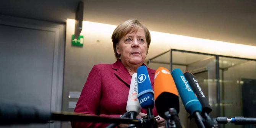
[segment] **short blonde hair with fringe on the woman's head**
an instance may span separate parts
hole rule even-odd
[[[138,31],[139,29],[143,29],[143,31],[145,32],[145,37],[146,37],[146,42],[147,42],[147,52],[149,49],[149,44],[151,42],[151,37],[150,37],[150,32],[147,29],[146,26],[144,26],[143,24],[141,24],[138,20],[136,19],[129,19],[125,22],[123,22],[122,24],[119,24],[117,26],[117,28],[115,28],[115,30],[113,31],[112,34],[112,42],[113,42],[113,49],[115,52],[115,58],[119,59],[120,55],[117,53],[117,43],[120,41],[120,39],[125,36],[128,33],[133,33]]]

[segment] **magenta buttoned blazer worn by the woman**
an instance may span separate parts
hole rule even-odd
[[[156,70],[147,68],[147,71],[154,89]],[[120,60],[111,65],[94,65],[74,112],[102,117],[120,117],[126,112],[130,83],[131,76]],[[145,109],[141,112],[147,113]],[[153,109],[153,114],[158,115],[156,107]],[[73,128],[105,128],[109,123],[72,122],[71,125]]]

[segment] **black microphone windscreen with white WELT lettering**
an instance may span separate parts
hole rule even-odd
[[[198,82],[196,81],[196,78],[194,75],[190,72],[185,72],[184,76],[186,77],[188,83],[190,84],[191,88],[193,89],[194,93],[196,94],[198,100],[200,101],[202,105],[202,112],[210,113],[212,111],[212,108],[204,95],[204,92],[202,91],[201,87],[199,86]]]

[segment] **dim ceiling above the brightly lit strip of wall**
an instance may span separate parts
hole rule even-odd
[[[84,20],[256,46],[255,0],[82,0]],[[65,23],[79,0],[1,0],[0,14]]]

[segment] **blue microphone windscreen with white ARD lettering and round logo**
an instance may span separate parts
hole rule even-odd
[[[147,67],[139,67],[137,69],[137,75],[139,104],[143,109],[147,109],[148,107],[154,108],[154,91],[151,87]]]

